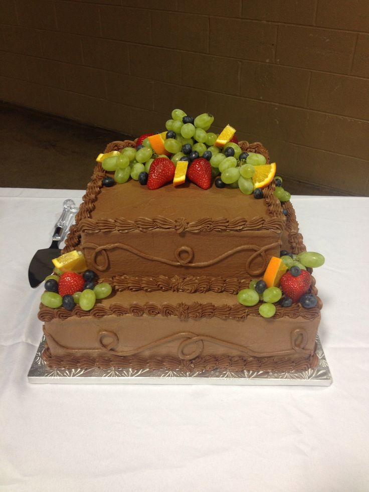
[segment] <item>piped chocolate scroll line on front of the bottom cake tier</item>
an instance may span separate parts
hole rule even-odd
[[[142,352],[145,352],[147,350],[157,348],[163,345],[170,344],[175,341],[181,340],[180,344],[178,345],[177,349],[177,355],[180,359],[182,360],[192,360],[195,359],[196,357],[199,357],[204,350],[204,343],[207,342],[209,344],[214,344],[218,345],[220,347],[224,347],[226,349],[231,349],[236,352],[241,352],[242,354],[245,354],[249,357],[280,357],[280,356],[289,356],[293,355],[296,353],[299,354],[305,354],[309,355],[312,354],[311,350],[304,349],[303,347],[296,345],[296,333],[297,337],[300,337],[302,335],[302,332],[304,330],[295,330],[292,332],[292,347],[291,349],[286,349],[286,350],[281,350],[281,351],[273,351],[273,352],[257,352],[249,347],[245,347],[243,345],[235,344],[232,342],[228,342],[226,340],[221,340],[216,337],[211,337],[208,335],[196,335],[195,333],[192,332],[180,332],[180,333],[175,333],[173,335],[169,335],[168,337],[163,337],[157,340],[154,340],[153,342],[150,342],[145,345],[141,345],[139,347],[135,347],[132,349],[125,349],[125,350],[116,350],[116,347],[119,345],[119,338],[118,335],[114,332],[106,331],[106,330],[101,330],[98,335],[97,335],[97,343],[99,347],[94,347],[94,348],[71,348],[71,347],[65,347],[61,344],[59,344],[54,337],[52,337],[50,334],[46,332],[44,329],[45,334],[47,335],[48,339],[55,345],[58,346],[59,349],[63,349],[67,353],[98,353],[104,351],[110,354],[114,354],[115,356],[120,356],[120,357],[127,357],[131,355],[136,355],[140,354]],[[305,332],[305,336],[306,332]],[[106,343],[106,340],[104,342],[104,339],[110,339],[109,343]],[[306,339],[307,341],[307,339]],[[305,340],[302,342],[302,345],[305,346],[306,342]],[[195,346],[195,347],[194,347]],[[190,351],[188,350],[190,348]]]

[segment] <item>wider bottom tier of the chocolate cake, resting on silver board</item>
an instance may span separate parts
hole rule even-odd
[[[196,300],[195,300],[196,299]],[[50,367],[306,370],[317,363],[320,309],[263,318],[222,292],[115,292],[91,311],[42,307]]]

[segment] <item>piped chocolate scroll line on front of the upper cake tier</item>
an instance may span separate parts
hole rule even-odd
[[[110,251],[112,249],[123,249],[124,251],[128,251],[136,256],[139,256],[140,258],[144,258],[149,261],[157,261],[165,265],[188,266],[192,268],[203,268],[203,267],[211,266],[229,258],[230,256],[233,256],[236,253],[253,250],[254,253],[248,258],[245,265],[245,270],[247,274],[252,276],[257,276],[257,275],[261,275],[267,267],[268,258],[266,255],[266,251],[272,248],[276,248],[280,245],[281,245],[280,240],[271,244],[267,244],[266,246],[262,246],[261,248],[255,244],[243,244],[241,246],[237,246],[236,248],[231,249],[230,251],[223,253],[222,255],[219,255],[208,261],[201,261],[201,262],[192,262],[194,258],[194,251],[189,246],[181,246],[175,250],[174,257],[176,258],[176,261],[169,260],[167,258],[160,258],[158,256],[149,255],[147,253],[144,253],[143,251],[139,251],[138,249],[133,248],[132,246],[122,243],[106,244],[104,246],[98,246],[93,243],[86,243],[83,245],[83,250],[86,249],[93,250],[90,261],[93,267],[100,272],[103,272],[108,269],[109,258],[108,258],[107,251]],[[183,258],[183,256],[181,256],[181,253],[183,252],[187,254],[186,258]],[[261,258],[262,260],[261,265],[258,268],[252,269],[251,263],[258,257]]]

